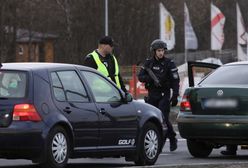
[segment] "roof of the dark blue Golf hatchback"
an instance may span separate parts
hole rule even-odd
[[[2,63],[0,69],[8,70],[23,70],[23,71],[36,71],[36,70],[47,70],[54,68],[80,68],[84,70],[92,70],[92,68],[85,67],[76,64],[65,64],[65,63],[40,63],[40,62],[21,62],[21,63]]]

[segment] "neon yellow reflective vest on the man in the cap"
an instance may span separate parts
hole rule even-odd
[[[96,62],[97,70],[111,80],[111,78],[109,77],[109,72],[108,72],[106,66],[100,60],[99,55],[97,54],[97,52],[93,51],[92,53],[90,53],[90,55],[93,56],[93,59]],[[114,55],[113,55],[113,58],[114,58],[114,62],[115,62],[115,83],[119,88],[121,88],[120,79],[119,79],[119,76],[118,76],[118,74],[119,74],[118,62],[117,62],[117,60],[116,60]]]

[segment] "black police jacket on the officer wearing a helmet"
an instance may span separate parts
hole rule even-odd
[[[154,80],[149,76],[144,67],[150,68],[155,76],[159,79],[161,86],[155,86]],[[160,60],[147,59],[141,68],[138,78],[140,82],[144,82],[149,92],[164,92],[170,94],[170,89],[173,90],[173,95],[178,96],[179,92],[179,75],[177,67],[173,60],[162,58]]]

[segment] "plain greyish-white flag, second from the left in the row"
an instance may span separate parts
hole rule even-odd
[[[185,35],[185,49],[197,49],[198,48],[198,41],[191,25],[190,17],[189,17],[189,10],[184,3],[184,35]]]

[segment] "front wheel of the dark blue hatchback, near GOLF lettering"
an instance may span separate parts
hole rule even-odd
[[[135,161],[136,165],[153,165],[161,151],[161,135],[158,128],[148,123],[144,126],[141,133],[140,142],[138,144],[138,158]]]

